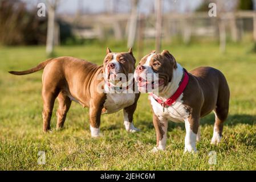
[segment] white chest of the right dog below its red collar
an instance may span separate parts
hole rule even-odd
[[[189,117],[189,111],[184,104],[182,104],[182,97],[178,97],[177,101],[174,102],[173,105],[165,107],[164,109],[162,106],[153,98],[151,97],[151,105],[153,107],[154,113],[157,117],[170,119],[173,122],[184,122],[184,119]]]

